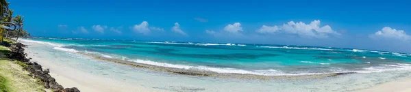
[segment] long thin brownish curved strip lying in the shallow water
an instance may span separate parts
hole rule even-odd
[[[267,75],[257,75],[257,74],[237,74],[237,73],[219,73],[206,70],[186,70],[175,67],[164,67],[158,65],[149,65],[145,63],[136,63],[132,61],[125,61],[120,59],[110,59],[107,57],[101,57],[97,55],[90,55],[84,52],[77,52],[81,55],[85,55],[94,59],[101,61],[109,61],[113,63],[119,63],[123,65],[130,65],[133,67],[145,68],[153,70],[156,72],[168,72],[171,74],[181,74],[187,76],[206,76],[206,77],[217,77],[217,78],[238,78],[238,79],[250,79],[250,80],[300,80],[300,79],[310,79],[310,78],[325,78],[340,76],[345,74],[355,74],[356,72],[339,72],[339,73],[329,73],[329,74],[306,74],[306,75],[280,75],[280,76],[267,76]]]

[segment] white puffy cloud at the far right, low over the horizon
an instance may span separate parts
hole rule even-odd
[[[394,38],[398,40],[411,40],[411,36],[407,35],[403,30],[391,29],[391,27],[384,27],[381,31],[375,32],[373,37]]]

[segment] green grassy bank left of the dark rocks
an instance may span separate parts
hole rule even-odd
[[[38,80],[28,76],[29,72],[23,69],[28,65],[5,57],[9,52],[9,48],[0,45],[0,92],[51,92],[38,84]]]

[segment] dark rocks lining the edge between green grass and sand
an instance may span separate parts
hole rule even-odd
[[[55,82],[55,78],[50,76],[49,69],[42,69],[42,66],[36,62],[30,61],[31,58],[27,58],[27,54],[24,52],[26,46],[19,42],[10,44],[10,54],[8,58],[15,59],[20,61],[23,64],[20,64],[24,67],[25,70],[30,72],[29,76],[38,79],[42,82],[42,85],[46,89],[51,89],[53,92],[80,92],[76,87],[65,88],[62,85],[59,85],[58,82]]]

